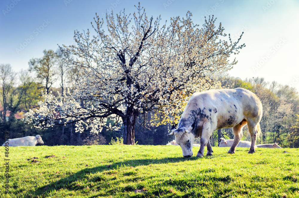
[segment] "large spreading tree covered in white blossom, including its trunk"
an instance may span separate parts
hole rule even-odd
[[[82,78],[63,99],[45,94],[40,108],[27,113],[28,123],[50,127],[76,122],[79,132],[84,127],[100,132],[107,119],[113,119],[116,124],[110,127],[123,124],[123,143],[135,144],[138,116],[146,121],[152,112],[174,122],[187,96],[217,86],[213,74],[232,68],[237,61],[229,62],[229,57],[245,46],[238,44],[241,37],[223,40],[224,28],[221,23],[216,28],[216,18],[200,27],[188,12],[186,18],[160,25],[161,17],[148,18],[143,7],[136,8],[133,15],[123,10],[107,14],[106,20],[96,15],[94,36],[89,30],[75,31],[76,44],[64,46],[64,53],[69,65],[84,68]]]

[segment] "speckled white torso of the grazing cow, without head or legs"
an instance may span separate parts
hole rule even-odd
[[[191,125],[192,117],[202,123],[206,121],[216,122],[213,130],[231,128],[239,124],[243,119],[254,119],[259,122],[262,117],[262,103],[251,91],[243,88],[208,90],[194,93],[182,117]],[[198,123],[202,125],[202,123]]]

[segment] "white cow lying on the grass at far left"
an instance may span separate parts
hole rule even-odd
[[[8,145],[8,146],[35,146],[36,144],[44,144],[44,142],[42,141],[41,135],[8,139],[8,144],[6,141],[6,142],[4,142],[4,144],[2,144],[2,146],[5,146],[5,145]]]

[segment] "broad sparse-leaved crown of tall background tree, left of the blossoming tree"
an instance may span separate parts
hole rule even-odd
[[[53,83],[57,80],[55,64],[57,61],[57,55],[53,50],[44,50],[44,56],[42,58],[32,58],[29,61],[29,71],[36,72],[36,77],[41,80],[41,84],[45,85],[47,93]]]

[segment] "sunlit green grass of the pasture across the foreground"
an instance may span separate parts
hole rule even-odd
[[[299,197],[299,149],[228,149],[186,159],[179,146],[10,147],[5,194],[1,147],[0,197]]]

